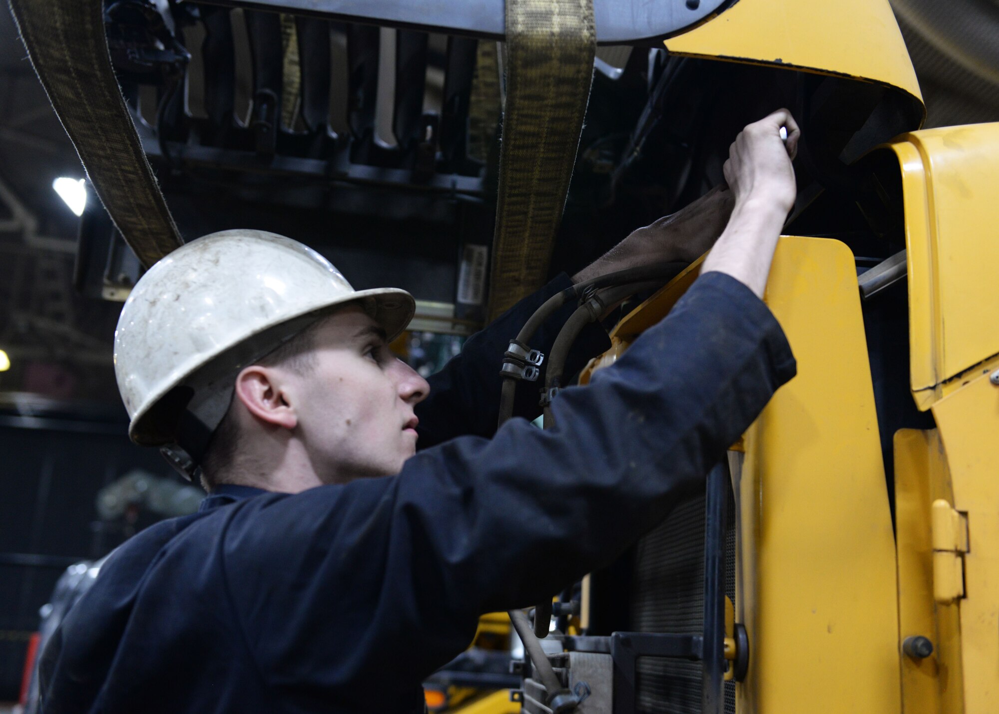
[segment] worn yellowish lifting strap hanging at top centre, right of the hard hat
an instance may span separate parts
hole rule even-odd
[[[506,0],[506,104],[491,320],[547,276],[595,51],[592,0]]]

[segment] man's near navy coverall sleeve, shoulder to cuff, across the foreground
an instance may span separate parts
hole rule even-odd
[[[794,373],[763,303],[708,273],[559,393],[554,429],[513,419],[398,476],[233,507],[226,577],[260,671],[303,706],[401,710],[481,613],[550,597],[652,528]]]

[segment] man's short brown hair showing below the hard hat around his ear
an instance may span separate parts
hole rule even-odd
[[[282,366],[297,374],[308,374],[316,367],[316,357],[311,354],[316,346],[316,328],[323,322],[317,320],[291,339],[283,342],[254,364],[263,367]],[[235,399],[235,394],[234,397]],[[205,457],[201,461],[201,485],[211,493],[220,483],[226,483],[226,467],[235,459],[240,446],[240,426],[236,421],[233,405],[219,422],[212,434]]]

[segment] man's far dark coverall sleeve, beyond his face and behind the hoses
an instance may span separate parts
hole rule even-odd
[[[431,393],[417,405],[420,418],[418,448],[436,446],[456,436],[492,436],[500,415],[500,367],[509,341],[516,337],[538,307],[555,293],[571,287],[562,273],[543,288],[520,300],[486,329],[466,341],[462,353],[428,381]],[[562,324],[577,307],[574,300],[552,315],[530,341],[533,349],[547,355]],[[565,374],[580,370],[590,357],[610,346],[606,333],[596,324],[587,325],[575,341],[565,361]],[[537,404],[538,383],[517,385],[513,414],[533,419],[541,413]]]

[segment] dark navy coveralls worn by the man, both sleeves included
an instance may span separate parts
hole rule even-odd
[[[519,303],[432,378],[422,450],[398,476],[297,495],[225,486],[122,545],[43,654],[42,710],[422,712],[421,682],[481,613],[609,563],[794,375],[764,304],[708,273],[613,367],[559,393],[554,429],[496,431],[507,341],[568,285]],[[567,374],[606,337],[580,342]],[[532,416],[536,390],[519,391]]]

